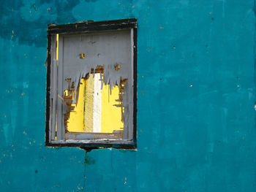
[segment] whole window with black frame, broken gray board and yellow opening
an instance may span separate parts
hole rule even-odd
[[[47,146],[136,147],[137,20],[48,26]]]

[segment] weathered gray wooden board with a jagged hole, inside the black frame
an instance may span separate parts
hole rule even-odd
[[[127,79],[123,96],[124,104],[124,136],[123,139],[101,139],[101,142],[127,143],[133,137],[133,29],[119,31],[103,31],[83,34],[59,34],[59,61],[56,61],[56,36],[52,38],[51,47],[51,84],[50,84],[50,140],[51,142],[96,142],[91,134],[79,134],[75,140],[64,140],[65,104],[59,99],[68,88],[67,78],[75,82],[104,65],[104,82],[116,85],[120,77]],[[80,59],[80,53],[85,58]],[[59,63],[59,64],[58,64]],[[115,70],[118,64],[120,69]],[[75,100],[75,99],[74,99]],[[57,134],[56,134],[56,116]],[[57,137],[57,139],[55,139]],[[99,141],[97,141],[99,142]]]

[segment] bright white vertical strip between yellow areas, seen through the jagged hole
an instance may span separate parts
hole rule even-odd
[[[101,132],[102,124],[102,92],[100,73],[94,74],[94,120],[93,131],[94,133]]]

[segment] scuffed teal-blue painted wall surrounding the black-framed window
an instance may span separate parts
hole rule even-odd
[[[45,147],[48,23],[138,18],[138,150]],[[255,191],[252,0],[2,0],[0,191]]]

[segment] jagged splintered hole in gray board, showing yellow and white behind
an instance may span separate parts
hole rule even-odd
[[[123,137],[123,94],[127,80],[121,79],[118,85],[113,86],[110,91],[110,85],[105,85],[102,81],[104,79],[103,69],[104,67],[100,66],[95,70],[91,69],[91,74],[81,78],[77,91],[78,97],[74,104],[75,88],[70,86],[70,84],[74,85],[74,82],[71,83],[71,79],[66,79],[69,86],[64,91],[64,99],[61,99],[67,106],[67,112],[64,115],[66,133],[112,134],[120,130],[119,138]],[[105,134],[105,137],[107,136],[108,134]],[[69,139],[69,137],[66,138]]]

